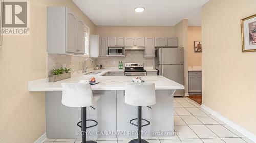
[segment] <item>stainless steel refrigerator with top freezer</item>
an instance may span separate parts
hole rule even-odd
[[[155,68],[158,75],[184,85],[184,49],[157,48],[155,50]],[[176,90],[174,96],[185,96],[185,90]]]

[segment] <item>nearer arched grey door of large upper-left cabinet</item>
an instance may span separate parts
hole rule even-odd
[[[76,53],[76,17],[67,9],[67,47],[66,52]]]

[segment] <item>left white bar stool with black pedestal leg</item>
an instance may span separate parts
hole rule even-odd
[[[79,107],[82,110],[82,121],[77,123],[82,131],[82,143],[96,143],[95,141],[86,141],[86,129],[98,124],[95,120],[86,119],[86,107],[92,107],[99,98],[99,94],[93,95],[91,85],[88,83],[62,83],[62,104],[68,107]],[[87,121],[93,121],[95,125],[87,127]],[[80,123],[81,125],[79,125]]]

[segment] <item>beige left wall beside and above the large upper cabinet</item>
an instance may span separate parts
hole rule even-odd
[[[0,48],[0,142],[34,142],[45,133],[45,93],[27,82],[47,77],[46,6],[68,6],[94,24],[70,0],[30,0],[30,35],[4,36]]]

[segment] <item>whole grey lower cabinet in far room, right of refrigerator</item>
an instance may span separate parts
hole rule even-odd
[[[202,94],[202,72],[201,71],[189,71],[188,72],[188,93]]]

